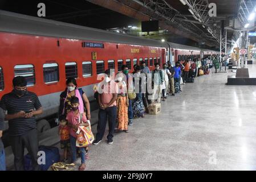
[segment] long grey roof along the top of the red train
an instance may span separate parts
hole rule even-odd
[[[159,40],[117,34],[115,32],[58,22],[55,20],[38,18],[29,15],[11,13],[3,10],[0,10],[0,22],[0,31],[2,32],[168,48],[168,44],[162,43]],[[197,47],[185,46],[170,42],[168,43],[170,44],[171,48],[201,51],[201,49]]]

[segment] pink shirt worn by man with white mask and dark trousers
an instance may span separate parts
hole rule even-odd
[[[118,85],[115,81],[111,81],[110,84],[108,84],[108,88],[105,88],[103,85],[103,93],[100,94],[100,100],[101,104],[108,105],[109,102],[113,98],[113,93],[118,93]],[[113,102],[109,107],[116,106],[116,101]]]

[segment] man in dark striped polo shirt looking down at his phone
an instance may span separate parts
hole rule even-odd
[[[27,91],[25,77],[13,78],[14,90],[5,94],[0,107],[7,110],[5,119],[9,121],[9,135],[14,154],[15,170],[24,170],[24,149],[29,151],[32,169],[39,170],[37,163],[38,131],[36,130],[35,115],[43,113],[42,106],[35,93]]]

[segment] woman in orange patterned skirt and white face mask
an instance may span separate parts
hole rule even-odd
[[[128,106],[129,99],[127,94],[127,85],[125,84],[126,76],[123,73],[117,74],[117,85],[118,85],[118,94],[117,94],[117,119],[118,119],[118,130],[125,131],[128,133]]]

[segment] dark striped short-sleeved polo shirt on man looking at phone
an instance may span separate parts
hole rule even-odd
[[[22,97],[18,97],[13,90],[2,97],[0,107],[7,110],[8,114],[15,114],[19,111],[37,110],[42,105],[35,93],[27,91]],[[32,129],[36,129],[35,117],[16,118],[9,121],[10,136],[24,135]]]

